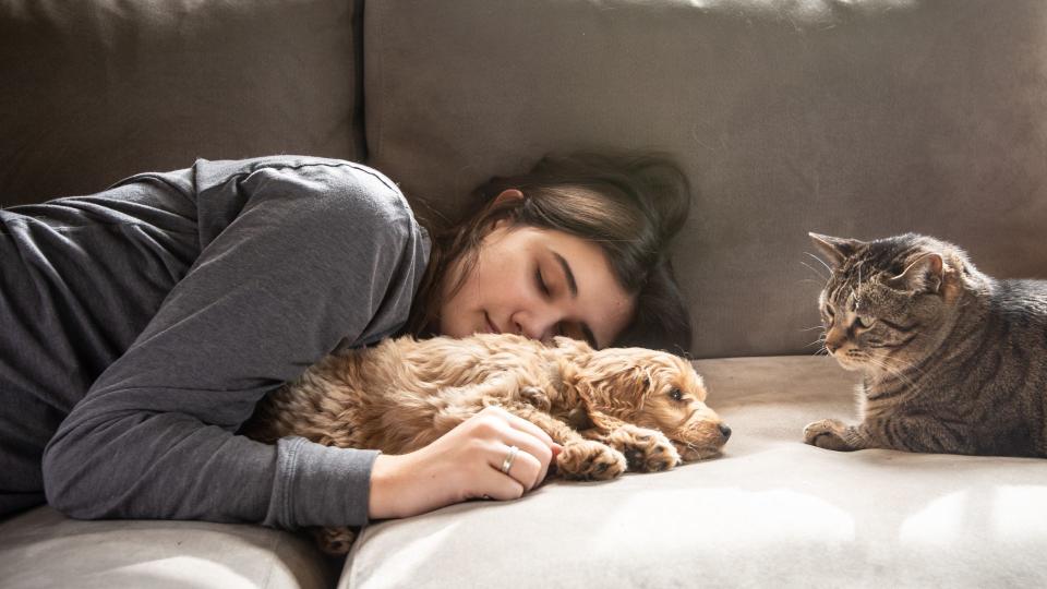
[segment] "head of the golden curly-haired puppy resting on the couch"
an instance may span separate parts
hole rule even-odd
[[[731,436],[731,428],[706,406],[705,383],[690,362],[645,348],[592,350],[562,339],[556,344],[575,366],[567,380],[598,428],[609,429],[613,418],[660,430],[684,461],[718,455]]]

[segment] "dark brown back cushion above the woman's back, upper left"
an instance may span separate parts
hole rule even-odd
[[[197,157],[362,158],[354,3],[0,2],[0,206]]]

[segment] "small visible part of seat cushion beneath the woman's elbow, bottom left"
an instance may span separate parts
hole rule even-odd
[[[337,569],[311,538],[200,521],[77,521],[38,507],[0,521],[0,586],[321,589]]]

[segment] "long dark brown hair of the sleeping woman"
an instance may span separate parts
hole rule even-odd
[[[495,197],[517,189],[524,199]],[[546,156],[520,176],[493,178],[472,193],[476,213],[440,230],[430,228],[433,252],[407,330],[432,333],[442,304],[442,285],[452,265],[472,265],[494,224],[553,229],[598,244],[615,279],[636,297],[631,322],[615,346],[641,346],[686,353],[690,313],[673,275],[669,245],[690,208],[690,187],[670,159],[659,155],[574,154]],[[452,296],[461,288],[459,273]]]

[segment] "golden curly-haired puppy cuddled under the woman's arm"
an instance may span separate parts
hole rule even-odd
[[[557,476],[605,480],[718,455],[731,429],[706,394],[690,363],[666,352],[509,334],[401,337],[322,359],[268,395],[242,431],[406,454],[500,406],[564,446]],[[352,533],[332,528],[317,538],[341,554]]]

